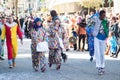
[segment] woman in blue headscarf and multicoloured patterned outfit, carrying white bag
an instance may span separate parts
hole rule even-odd
[[[39,42],[45,41],[46,32],[42,25],[41,18],[34,20],[34,27],[31,31],[31,51],[32,51],[32,66],[35,71],[44,72],[46,70],[45,53],[36,50]],[[43,45],[44,46],[44,45]]]

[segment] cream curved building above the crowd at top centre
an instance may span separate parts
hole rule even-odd
[[[80,11],[81,0],[46,0],[49,10],[56,10],[59,14]]]

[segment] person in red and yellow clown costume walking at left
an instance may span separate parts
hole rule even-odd
[[[2,44],[4,44],[5,37],[6,37],[6,45],[7,45],[7,52],[8,52],[8,64],[9,68],[15,67],[15,59],[18,53],[18,42],[17,42],[17,35],[19,36],[22,43],[22,32],[18,27],[18,24],[13,22],[13,17],[8,17],[8,22],[4,24],[2,29]]]

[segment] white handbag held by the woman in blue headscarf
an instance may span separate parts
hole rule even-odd
[[[49,51],[48,42],[46,42],[46,41],[39,42],[37,44],[36,51],[37,52],[47,52],[47,51]]]

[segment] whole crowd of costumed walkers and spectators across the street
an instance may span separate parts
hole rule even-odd
[[[38,43],[46,41],[49,48],[49,67],[67,60],[64,50],[89,51],[90,61],[96,59],[98,74],[104,74],[104,55],[117,58],[120,52],[120,15],[106,17],[106,12],[92,12],[86,17],[80,14],[58,16],[55,10],[49,15],[15,18],[1,16],[0,21],[0,60],[4,60],[4,41],[6,39],[9,68],[16,66],[18,53],[17,35],[31,39],[32,66],[35,71],[46,70],[45,51],[37,51]],[[85,49],[85,45],[88,47]],[[107,46],[106,46],[107,45]]]

